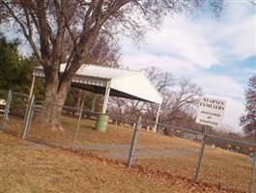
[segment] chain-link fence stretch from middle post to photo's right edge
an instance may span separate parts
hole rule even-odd
[[[136,164],[156,173],[221,186],[228,192],[253,192],[255,154],[248,147],[255,150],[255,144],[214,136],[207,126],[204,133],[167,124],[157,128],[158,135],[138,137]]]

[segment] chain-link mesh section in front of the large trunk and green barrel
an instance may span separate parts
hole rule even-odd
[[[39,103],[39,102],[36,102]],[[93,152],[108,158],[127,160],[133,123],[129,120],[109,117],[107,133],[96,130],[98,112],[64,106],[61,113],[61,128],[45,129],[39,124],[41,105],[34,105],[33,122],[27,139],[55,147]]]

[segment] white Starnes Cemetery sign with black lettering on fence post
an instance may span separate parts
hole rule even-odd
[[[200,97],[199,107],[195,122],[219,127],[224,117],[226,100],[216,97]]]

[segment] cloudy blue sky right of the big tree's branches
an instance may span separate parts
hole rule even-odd
[[[189,78],[206,95],[225,98],[223,125],[240,132],[244,89],[256,73],[256,7],[247,0],[226,0],[223,8],[218,19],[212,14],[166,17],[140,47],[123,40],[122,64],[129,69],[157,67]]]

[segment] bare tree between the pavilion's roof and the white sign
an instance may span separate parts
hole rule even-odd
[[[192,117],[202,89],[190,80],[176,79],[170,72],[156,68],[143,69],[148,78],[156,85],[157,91],[163,97],[161,105],[161,123],[170,123],[173,120],[185,120]],[[147,103],[147,118],[156,119],[157,106]]]

